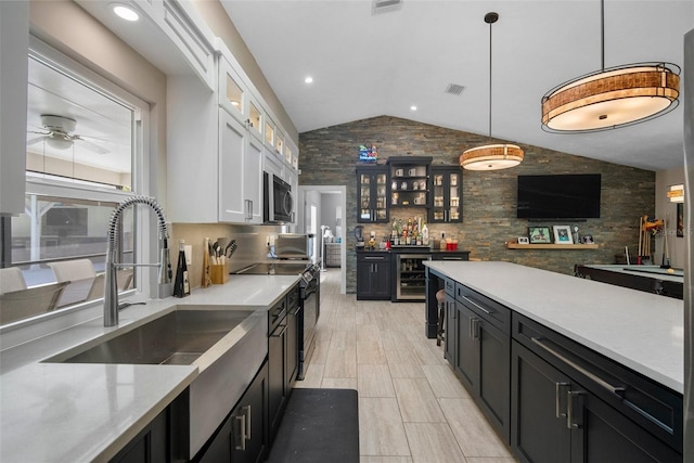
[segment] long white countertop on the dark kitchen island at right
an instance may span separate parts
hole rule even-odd
[[[682,300],[500,261],[427,261],[448,276],[682,394]]]

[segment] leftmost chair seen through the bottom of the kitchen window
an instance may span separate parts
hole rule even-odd
[[[66,285],[62,282],[27,288],[18,268],[0,269],[0,324],[54,310]]]

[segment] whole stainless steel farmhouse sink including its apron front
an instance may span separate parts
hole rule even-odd
[[[248,306],[178,305],[154,317],[44,362],[196,366],[185,413],[192,459],[262,366],[268,355],[268,311]]]

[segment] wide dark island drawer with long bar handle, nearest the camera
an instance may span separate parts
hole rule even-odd
[[[682,452],[682,396],[518,313],[514,339]]]

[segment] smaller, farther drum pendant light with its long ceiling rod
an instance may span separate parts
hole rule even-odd
[[[489,24],[489,138],[491,138],[491,25],[499,20],[498,13],[487,13]],[[515,167],[523,162],[523,150],[515,144],[486,144],[473,147],[460,155],[460,165],[467,170],[499,170]]]

